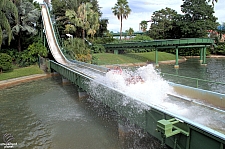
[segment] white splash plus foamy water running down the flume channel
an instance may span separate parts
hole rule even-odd
[[[129,82],[129,78],[137,76],[141,77],[143,81],[138,80],[135,83]],[[185,117],[193,122],[202,124],[225,134],[225,123],[223,121],[225,116],[223,112],[214,111],[211,108],[188,102],[179,97],[168,97],[167,93],[172,93],[174,95],[177,95],[177,93],[173,90],[173,87],[157,73],[151,64],[140,67],[135,71],[123,70],[122,73],[109,71],[105,76],[96,77],[95,81],[126,94],[128,98],[126,99],[126,96],[122,97],[122,103],[118,104],[129,104],[129,97],[133,97],[136,100],[146,103],[134,105],[136,107],[140,106],[140,112],[144,109],[148,109],[150,107],[148,105],[154,105],[160,109]],[[91,88],[93,88],[95,94],[101,95],[102,90],[98,90],[97,86],[97,83],[93,83]],[[104,91],[105,93],[102,97],[111,93],[110,90]],[[115,99],[116,98],[117,97],[115,97]],[[121,96],[119,96],[119,98],[121,98]],[[218,117],[218,115],[223,118]]]

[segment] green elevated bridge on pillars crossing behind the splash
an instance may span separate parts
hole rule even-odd
[[[214,40],[211,38],[183,38],[183,39],[167,39],[167,40],[151,40],[141,42],[124,42],[118,44],[104,44],[104,47],[113,50],[114,54],[118,54],[120,50],[127,49],[155,49],[155,63],[158,65],[158,49],[175,49],[176,50],[176,63],[178,65],[178,51],[182,48],[200,48],[200,61],[206,64],[206,47],[213,46]]]

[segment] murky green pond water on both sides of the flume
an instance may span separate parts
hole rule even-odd
[[[179,70],[161,65],[158,71],[224,82],[225,59],[207,59],[207,63],[201,66],[198,59],[188,59],[179,64]],[[79,100],[77,88],[62,85],[58,77],[0,90],[0,143],[4,142],[2,136],[10,133],[17,148],[159,147],[159,142],[137,128],[121,140],[117,120],[115,112],[95,100]]]

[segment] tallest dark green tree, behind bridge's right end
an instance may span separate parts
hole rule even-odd
[[[205,0],[185,0],[181,11],[184,13],[180,20],[182,37],[207,37],[207,31],[218,26],[213,7]]]

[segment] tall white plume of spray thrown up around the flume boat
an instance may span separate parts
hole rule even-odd
[[[122,73],[109,71],[105,76],[96,78],[96,81],[124,92],[130,97],[155,105],[162,103],[167,97],[166,93],[172,91],[172,87],[162,79],[152,64],[135,71],[123,70]]]

